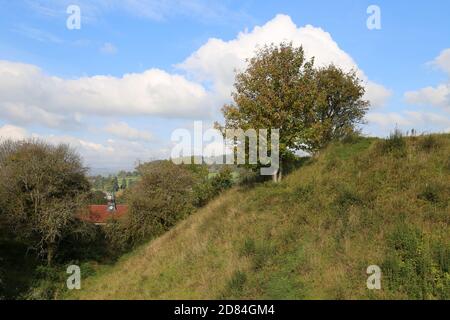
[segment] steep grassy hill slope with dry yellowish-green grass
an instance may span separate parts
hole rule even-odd
[[[225,193],[67,298],[450,299],[449,223],[450,135],[358,139]]]

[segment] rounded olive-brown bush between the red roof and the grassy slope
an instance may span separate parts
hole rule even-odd
[[[233,183],[230,170],[209,178],[204,165],[155,161],[138,171],[141,180],[125,193],[129,214],[104,228],[108,247],[116,254],[169,230]]]

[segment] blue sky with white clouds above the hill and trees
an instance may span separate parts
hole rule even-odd
[[[450,132],[449,12],[448,0],[0,0],[0,140],[68,143],[94,172],[167,158],[174,130],[222,122],[235,71],[281,41],[357,72],[364,134]]]

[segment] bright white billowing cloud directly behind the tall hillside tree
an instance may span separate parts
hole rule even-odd
[[[352,57],[344,52],[331,35],[311,25],[297,27],[287,15],[277,15],[263,26],[241,32],[236,39],[224,41],[212,38],[195,51],[178,67],[198,81],[212,82],[214,90],[225,99],[229,98],[234,83],[234,70],[243,70],[246,59],[251,58],[258,47],[265,44],[292,42],[302,45],[308,57],[315,57],[316,65],[331,63],[346,71],[355,70],[366,83],[367,95],[374,107],[382,106],[391,92],[380,84],[369,81]]]

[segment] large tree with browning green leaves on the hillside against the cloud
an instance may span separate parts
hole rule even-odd
[[[355,130],[369,105],[354,72],[315,68],[291,43],[258,50],[234,87],[222,129],[279,129],[281,164],[296,150],[315,152]]]

